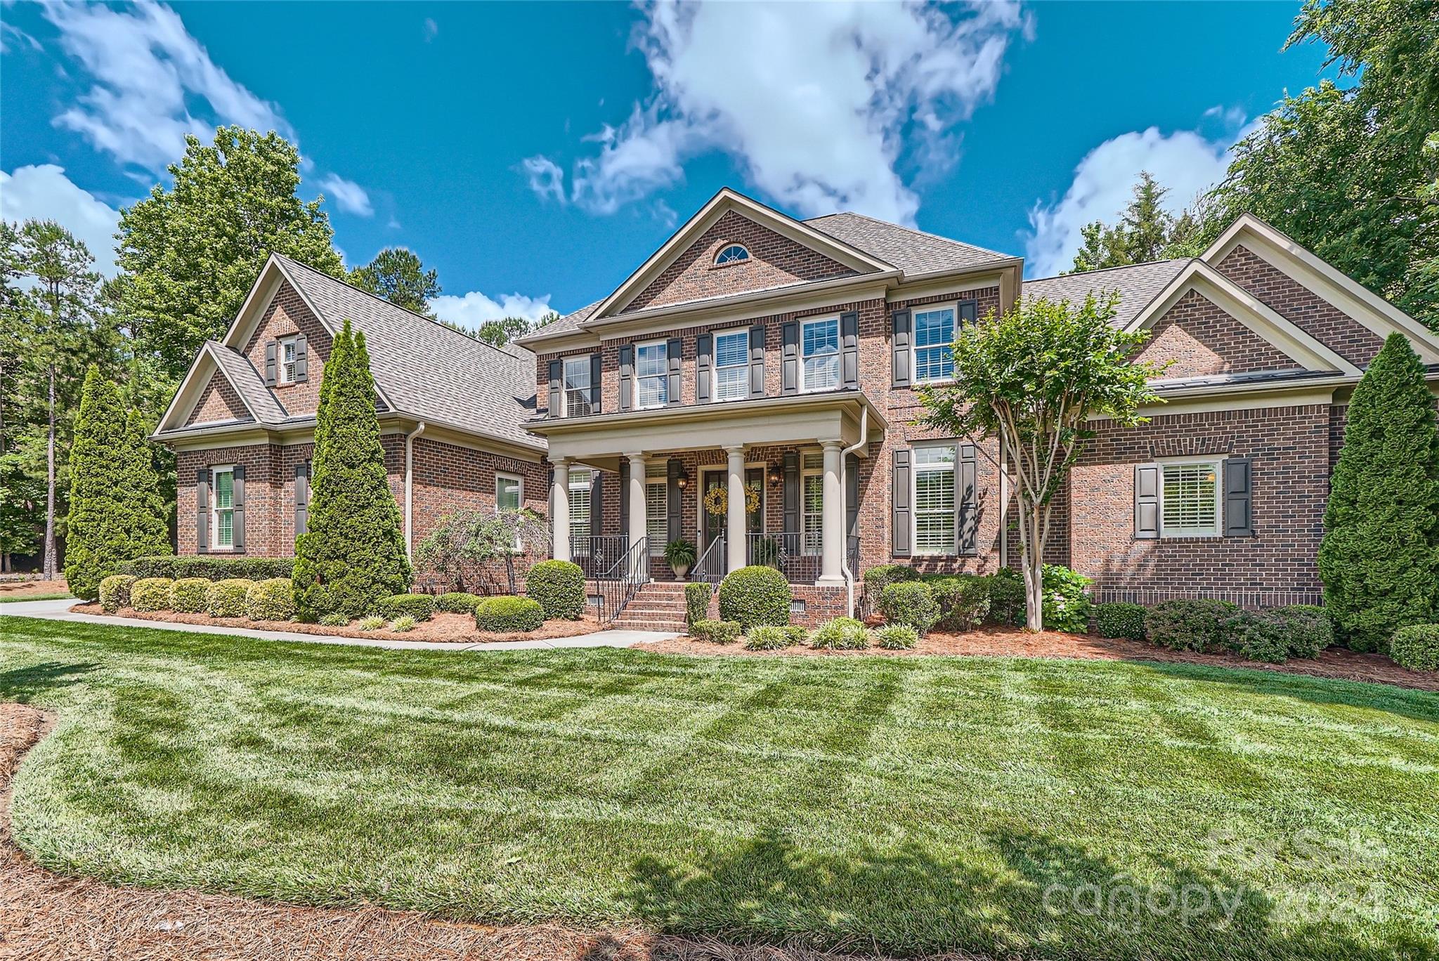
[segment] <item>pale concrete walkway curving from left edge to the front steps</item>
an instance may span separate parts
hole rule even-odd
[[[184,630],[196,634],[237,634],[260,640],[298,640],[311,645],[341,645],[345,647],[387,647],[390,650],[550,650],[555,647],[629,647],[637,643],[653,643],[676,637],[662,630],[599,630],[578,637],[551,637],[550,640],[492,640],[476,645],[460,645],[443,640],[390,640],[387,637],[334,637],[330,634],[307,634],[296,630],[253,630],[250,627],[226,627],[210,624],[177,624],[167,620],[141,620],[132,617],[109,617],[101,614],[72,614],[71,607],[78,600],[10,601],[0,604],[0,617],[43,617],[45,620],[66,620],[76,624],[114,624],[117,627],[154,627],[158,630]]]

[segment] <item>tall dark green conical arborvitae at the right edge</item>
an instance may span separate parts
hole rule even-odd
[[[1324,512],[1320,577],[1354,650],[1439,616],[1439,427],[1425,365],[1390,334],[1350,400]]]

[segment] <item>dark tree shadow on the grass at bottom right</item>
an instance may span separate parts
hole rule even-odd
[[[770,830],[698,865],[637,862],[629,898],[659,931],[832,951],[1114,958],[1435,958],[1417,929],[1281,924],[1269,895],[1219,870],[1120,865],[1022,829],[983,836],[971,862],[915,843],[853,856]],[[986,856],[986,853],[989,856]],[[1302,893],[1302,892],[1301,892]]]

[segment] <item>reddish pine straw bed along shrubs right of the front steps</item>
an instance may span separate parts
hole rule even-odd
[[[1409,670],[1400,668],[1383,655],[1361,655],[1353,650],[1331,647],[1312,660],[1289,660],[1282,665],[1266,665],[1245,660],[1239,655],[1200,655],[1189,650],[1168,650],[1137,640],[1094,637],[1091,634],[1065,634],[1046,630],[1030,634],[1019,629],[984,627],[964,634],[931,632],[920,639],[914,650],[814,650],[797,646],[783,650],[747,650],[744,645],[712,645],[695,637],[635,645],[643,650],[672,655],[730,655],[745,657],[855,657],[886,656],[915,657],[925,655],[958,655],[966,657],[1073,657],[1078,660],[1157,660],[1163,663],[1207,665],[1212,668],[1252,668],[1258,670],[1279,670],[1284,673],[1309,675],[1338,680],[1370,680],[1399,688],[1439,691],[1439,673],[1432,670]]]

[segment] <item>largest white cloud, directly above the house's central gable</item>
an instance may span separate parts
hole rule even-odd
[[[655,94],[589,137],[599,152],[573,168],[570,200],[596,213],[724,151],[803,214],[846,207],[912,223],[920,201],[901,171],[917,178],[957,160],[954,125],[993,95],[1009,43],[1029,29],[1013,1],[648,4],[643,14],[636,43]],[[525,170],[537,193],[558,196],[553,160]]]

